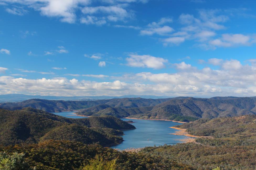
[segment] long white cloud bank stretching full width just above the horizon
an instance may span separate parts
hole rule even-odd
[[[111,79],[115,79],[112,82],[68,80],[62,77],[34,80],[0,76],[0,94],[10,92],[59,96],[147,94],[199,97],[256,95],[255,66],[242,65],[238,60],[223,60],[218,70],[210,67],[199,70],[187,63],[179,63],[176,66],[179,67],[176,73],[141,72],[121,77],[111,76]],[[106,77],[105,75],[85,76]]]

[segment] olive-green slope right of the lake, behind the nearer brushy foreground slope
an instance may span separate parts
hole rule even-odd
[[[211,136],[200,138],[198,142],[211,146],[254,145],[256,143],[256,116],[221,117],[212,120],[199,119],[177,126],[191,135]]]

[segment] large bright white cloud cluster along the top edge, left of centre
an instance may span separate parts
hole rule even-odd
[[[147,0],[105,0],[99,1],[99,6],[93,6],[93,1],[90,0],[68,0],[68,1],[60,1],[60,0],[2,0],[1,3],[4,4],[15,4],[13,8],[7,8],[6,11],[15,15],[24,15],[28,11],[23,7],[34,8],[36,11],[40,11],[40,14],[48,17],[56,17],[60,18],[61,22],[74,23],[76,22],[77,10],[81,10],[83,14],[89,14],[91,18],[83,17],[81,19],[82,23],[85,24],[103,24],[106,20],[108,21],[125,21],[127,18],[132,18],[134,16],[134,12],[132,10],[125,9],[128,7],[129,3],[141,2],[146,3]],[[102,6],[102,5],[106,6]],[[19,6],[18,6],[19,5]],[[91,5],[91,6],[90,6]],[[98,20],[95,21],[96,17],[94,15],[101,15],[100,18],[105,18],[106,20]],[[88,21],[89,19],[89,21]],[[91,20],[90,20],[91,19]],[[92,20],[94,20],[92,22]]]

